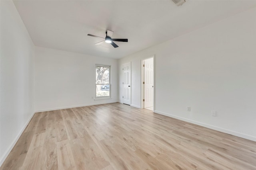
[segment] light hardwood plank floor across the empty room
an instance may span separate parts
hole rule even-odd
[[[35,113],[1,170],[256,170],[256,142],[123,104]]]

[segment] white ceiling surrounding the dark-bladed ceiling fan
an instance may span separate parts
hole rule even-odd
[[[36,46],[120,59],[210,23],[256,7],[256,1],[187,0],[17,0],[14,4]],[[94,45],[112,38],[128,43]]]

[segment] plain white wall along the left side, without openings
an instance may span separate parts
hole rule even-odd
[[[34,113],[34,44],[12,1],[0,1],[0,158]]]

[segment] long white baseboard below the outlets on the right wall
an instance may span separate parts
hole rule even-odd
[[[213,125],[208,125],[208,124],[206,124],[206,123],[194,121],[194,120],[191,120],[191,119],[186,119],[186,118],[184,118],[184,117],[175,116],[175,115],[172,115],[172,114],[169,114],[169,113],[164,113],[164,112],[158,111],[158,110],[155,110],[154,112],[155,112],[155,113],[158,113],[158,114],[160,114],[160,115],[165,115],[165,116],[168,116],[168,117],[172,117],[172,118],[175,118],[175,119],[179,119],[179,120],[182,120],[182,121],[186,121],[186,122],[189,122],[189,123],[193,123],[193,124],[196,124],[196,125],[200,125],[200,126],[203,126],[203,127],[207,127],[207,128],[209,128],[209,129],[214,129],[214,130],[216,130],[216,131],[228,133],[228,134],[230,134],[230,135],[234,135],[234,136],[237,136],[237,137],[242,137],[242,138],[244,138],[244,139],[249,139],[249,140],[251,140],[251,141],[256,141],[256,137],[251,136],[251,135],[247,135],[247,134],[244,134],[244,133],[232,131],[232,130],[229,130],[229,129],[224,129],[224,128],[222,128],[222,127],[216,127],[216,126],[213,126]]]

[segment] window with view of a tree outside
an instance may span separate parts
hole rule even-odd
[[[110,98],[110,66],[96,65],[96,99]]]

